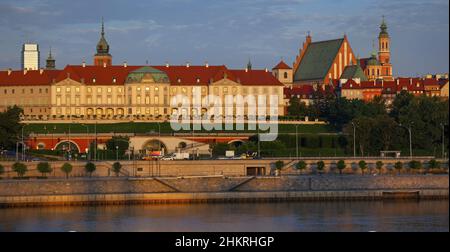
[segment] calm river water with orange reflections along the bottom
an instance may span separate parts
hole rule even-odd
[[[0,231],[449,231],[449,202],[359,201],[0,209]]]

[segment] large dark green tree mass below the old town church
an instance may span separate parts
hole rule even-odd
[[[354,127],[357,152],[361,156],[408,149],[408,128],[412,131],[414,149],[434,154],[442,148],[443,133],[447,143],[444,149],[449,148],[448,99],[414,96],[402,91],[391,105],[386,104],[386,100],[379,96],[365,102],[325,92],[315,93],[310,106],[293,97],[288,113],[292,116],[316,115],[329,122],[337,131],[345,134],[347,153],[351,153],[353,147]],[[445,132],[442,131],[443,126]]]

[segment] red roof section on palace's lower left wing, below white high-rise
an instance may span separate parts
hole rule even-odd
[[[0,71],[0,86],[50,85],[61,70]]]

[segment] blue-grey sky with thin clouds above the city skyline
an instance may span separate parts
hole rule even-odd
[[[25,42],[41,65],[52,48],[58,68],[92,63],[104,17],[113,62],[129,65],[292,65],[313,41],[346,34],[368,57],[382,16],[396,76],[448,73],[448,0],[0,0],[0,69],[20,68]]]

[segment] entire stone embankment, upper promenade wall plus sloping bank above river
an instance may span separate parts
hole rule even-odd
[[[325,169],[317,170],[317,161]],[[305,171],[295,169],[298,160],[202,160],[123,162],[117,176],[114,162],[96,162],[92,176],[84,171],[85,162],[72,162],[68,179],[60,170],[63,162],[53,162],[52,173],[42,179],[36,163],[26,163],[29,179],[14,179],[12,162],[3,162],[6,175],[0,180],[0,206],[98,205],[198,202],[267,202],[303,200],[385,200],[448,199],[449,176],[444,164],[439,174],[407,168],[408,159],[364,159],[364,174],[359,159],[345,160],[342,174],[336,159],[308,159]],[[415,158],[426,164],[429,159]],[[395,170],[396,162],[405,168]],[[426,168],[426,167],[424,167]]]

